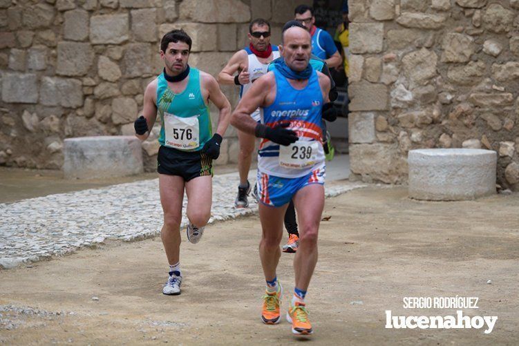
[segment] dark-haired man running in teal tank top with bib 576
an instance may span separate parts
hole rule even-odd
[[[160,202],[164,225],[160,231],[169,262],[169,279],[163,294],[180,294],[180,222],[182,200],[187,194],[187,239],[197,243],[211,216],[212,160],[220,155],[220,143],[229,126],[231,105],[216,79],[187,64],[191,38],[172,30],[160,41],[164,72],[144,92],[144,115],[135,120],[140,140],[149,136],[160,115],[158,153]],[[209,100],[220,110],[216,133],[212,133]]]

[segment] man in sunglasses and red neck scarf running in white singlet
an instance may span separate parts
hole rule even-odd
[[[270,23],[265,19],[258,18],[251,21],[247,37],[249,38],[249,46],[234,53],[227,65],[218,74],[220,84],[240,86],[240,97],[247,93],[256,79],[267,73],[268,64],[279,57],[278,48],[270,44]],[[238,74],[234,75],[235,73]],[[259,109],[255,110],[251,117],[259,122]],[[247,195],[249,195],[251,184],[248,176],[256,141],[254,135],[238,131],[238,142],[240,143],[238,154],[240,184],[234,205],[238,208],[245,208],[249,205]]]

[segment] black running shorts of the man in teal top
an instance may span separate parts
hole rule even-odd
[[[186,182],[196,177],[213,176],[212,160],[200,151],[181,151],[160,146],[157,161],[158,173],[179,175]]]

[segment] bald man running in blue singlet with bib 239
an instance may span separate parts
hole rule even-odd
[[[283,59],[257,79],[232,115],[238,130],[260,137],[258,154],[260,258],[267,283],[263,323],[281,320],[281,285],[276,267],[281,256],[283,215],[294,200],[301,220],[300,244],[294,258],[295,289],[287,313],[292,333],[313,333],[305,294],[317,264],[317,238],[324,206],[325,160],[321,117],[329,103],[330,79],[310,66],[312,44],[307,30],[294,26],[282,36]],[[261,107],[261,124],[250,115]]]

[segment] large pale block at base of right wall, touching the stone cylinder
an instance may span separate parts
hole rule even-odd
[[[348,149],[350,171],[363,180],[397,184],[406,179],[407,162],[397,144],[350,144]]]

